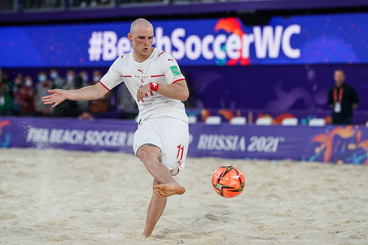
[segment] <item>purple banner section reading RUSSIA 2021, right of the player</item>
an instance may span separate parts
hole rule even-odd
[[[367,164],[365,127],[194,125],[192,157],[293,159]]]

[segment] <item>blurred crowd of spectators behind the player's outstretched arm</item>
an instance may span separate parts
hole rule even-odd
[[[95,85],[102,78],[101,71],[96,69],[92,74],[86,70],[78,73],[68,69],[65,76],[58,69],[39,71],[37,78],[17,74],[13,81],[8,74],[2,72],[0,83],[0,115],[4,116],[57,116],[79,117],[84,119],[94,117],[109,117],[108,114],[121,115],[122,118],[133,119],[137,106],[126,86],[112,89],[109,93],[95,101],[66,100],[55,108],[44,105],[41,97],[50,94],[50,89],[80,89]],[[124,112],[124,113],[117,113]]]

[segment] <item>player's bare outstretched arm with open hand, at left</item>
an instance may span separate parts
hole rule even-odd
[[[97,100],[105,95],[108,90],[100,83],[97,83],[94,86],[88,86],[78,90],[53,89],[48,90],[48,92],[52,94],[41,97],[41,100],[43,104],[53,104],[52,107],[55,107],[66,99],[72,101]]]

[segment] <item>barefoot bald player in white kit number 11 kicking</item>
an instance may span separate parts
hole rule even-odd
[[[52,94],[41,99],[52,107],[66,99],[97,100],[125,83],[139,108],[133,150],[154,177],[143,232],[148,237],[165,209],[167,197],[185,192],[173,176],[185,166],[188,152],[188,116],[181,101],[188,99],[189,91],[176,60],[152,47],[153,27],[149,21],[133,21],[128,38],[133,51],[118,57],[99,83],[78,90],[49,90]]]

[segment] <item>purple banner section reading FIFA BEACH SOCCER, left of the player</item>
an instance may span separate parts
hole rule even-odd
[[[122,120],[0,118],[0,147],[133,153],[136,123]]]

